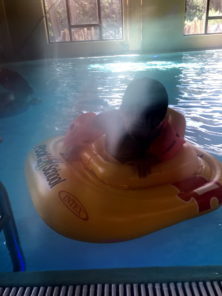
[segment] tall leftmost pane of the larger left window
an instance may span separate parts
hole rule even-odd
[[[50,41],[70,41],[65,0],[60,0],[58,4],[55,5],[53,5],[53,3],[54,0],[45,0],[46,12],[52,7],[47,13]]]

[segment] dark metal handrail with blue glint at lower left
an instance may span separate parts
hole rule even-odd
[[[5,186],[0,181],[0,232],[3,230],[5,243],[12,260],[13,271],[25,271],[25,257]]]

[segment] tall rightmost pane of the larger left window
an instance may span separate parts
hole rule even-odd
[[[100,7],[103,27],[115,36],[115,38],[123,38],[121,0],[100,0]],[[102,28],[102,38],[114,39],[104,28]]]

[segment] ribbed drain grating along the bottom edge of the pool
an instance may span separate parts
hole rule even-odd
[[[0,296],[222,296],[222,282],[7,287]]]

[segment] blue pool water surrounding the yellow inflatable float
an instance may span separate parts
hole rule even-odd
[[[25,158],[34,145],[65,134],[82,112],[119,107],[129,82],[144,76],[163,83],[169,106],[185,116],[185,138],[222,162],[222,51],[54,59],[1,67],[19,72],[33,86],[33,96],[42,99],[24,113],[0,119],[0,179],[11,200],[28,271],[222,264],[222,207],[128,242],[78,242],[55,233],[39,218],[24,176]],[[12,270],[2,232],[0,260],[0,271]]]

